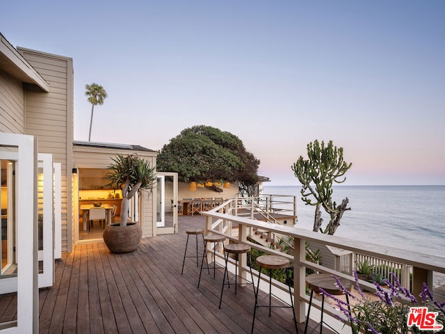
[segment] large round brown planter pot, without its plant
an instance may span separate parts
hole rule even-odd
[[[129,253],[138,248],[142,238],[142,229],[136,223],[107,225],[104,230],[104,242],[111,253]]]

